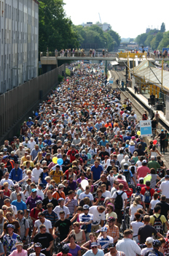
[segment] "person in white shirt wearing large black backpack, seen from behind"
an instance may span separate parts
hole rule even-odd
[[[126,192],[122,191],[124,185],[119,184],[119,190],[114,191],[112,197],[112,203],[114,204],[115,210],[114,212],[117,214],[117,226],[120,228],[122,225],[122,208],[127,206],[127,194]]]

